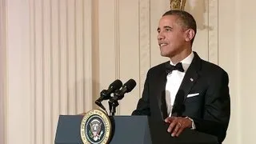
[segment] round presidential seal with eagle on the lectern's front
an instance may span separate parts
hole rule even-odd
[[[102,110],[90,110],[82,118],[80,133],[85,144],[106,144],[110,141],[110,118]]]

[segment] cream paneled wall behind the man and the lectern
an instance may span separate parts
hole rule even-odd
[[[230,76],[225,144],[254,142],[255,4],[186,3],[198,22],[194,50]],[[166,61],[156,38],[166,10],[169,0],[0,0],[0,143],[53,143],[58,115],[95,108],[117,78],[137,82],[118,107],[130,114],[147,70]]]

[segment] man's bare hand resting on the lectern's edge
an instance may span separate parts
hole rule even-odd
[[[184,129],[192,127],[192,121],[189,118],[168,117],[165,122],[170,123],[167,131],[171,133],[172,137],[178,137]]]

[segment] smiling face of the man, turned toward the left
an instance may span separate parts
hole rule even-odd
[[[163,16],[158,25],[158,45],[161,55],[172,58],[185,49],[186,30],[182,28],[177,16]]]

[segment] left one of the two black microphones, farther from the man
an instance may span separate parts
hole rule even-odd
[[[106,110],[105,107],[102,105],[103,100],[107,100],[111,98],[111,95],[115,90],[119,90],[122,87],[122,82],[117,79],[112,82],[107,90],[101,91],[101,96],[98,98],[95,103],[100,106],[103,110]]]

